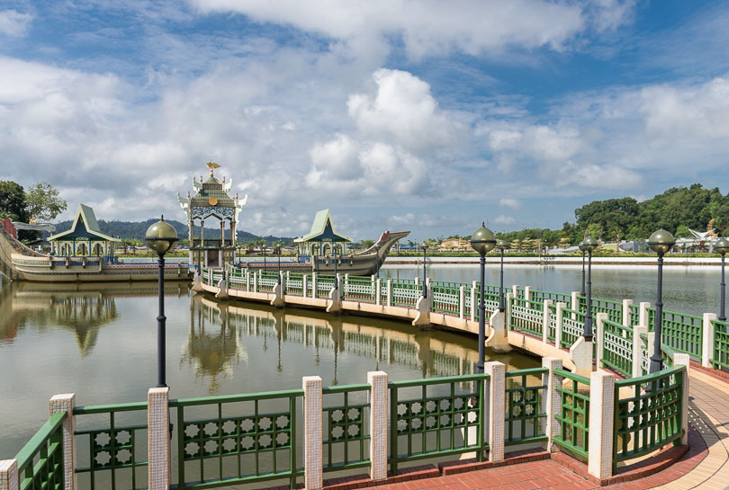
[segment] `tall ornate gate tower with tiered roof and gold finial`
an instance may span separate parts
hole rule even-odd
[[[196,191],[194,196],[183,198],[177,194],[177,200],[187,215],[187,227],[189,229],[188,239],[190,240],[190,265],[198,267],[223,267],[225,263],[233,263],[236,253],[236,225],[238,215],[246,205],[248,196],[242,200],[238,199],[238,192],[235,197],[229,196],[230,188],[233,186],[233,179],[222,182],[215,178],[214,170],[220,165],[213,162],[206,164],[210,169],[210,177],[202,182],[193,179],[193,188]],[[220,238],[205,238],[205,219],[216,218],[220,221]],[[195,219],[200,219],[200,239],[195,240],[194,224]],[[225,239],[225,221],[228,220],[230,236]]]

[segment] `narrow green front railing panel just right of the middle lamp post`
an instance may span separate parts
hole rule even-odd
[[[548,439],[542,423],[546,418],[542,400],[547,390],[542,375],[548,372],[546,368],[506,372],[505,445]]]

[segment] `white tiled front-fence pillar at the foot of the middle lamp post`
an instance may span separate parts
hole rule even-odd
[[[488,396],[489,461],[496,463],[504,459],[504,397],[506,396],[506,366],[503,362],[484,363],[483,372],[490,376],[483,383],[483,397]]]

